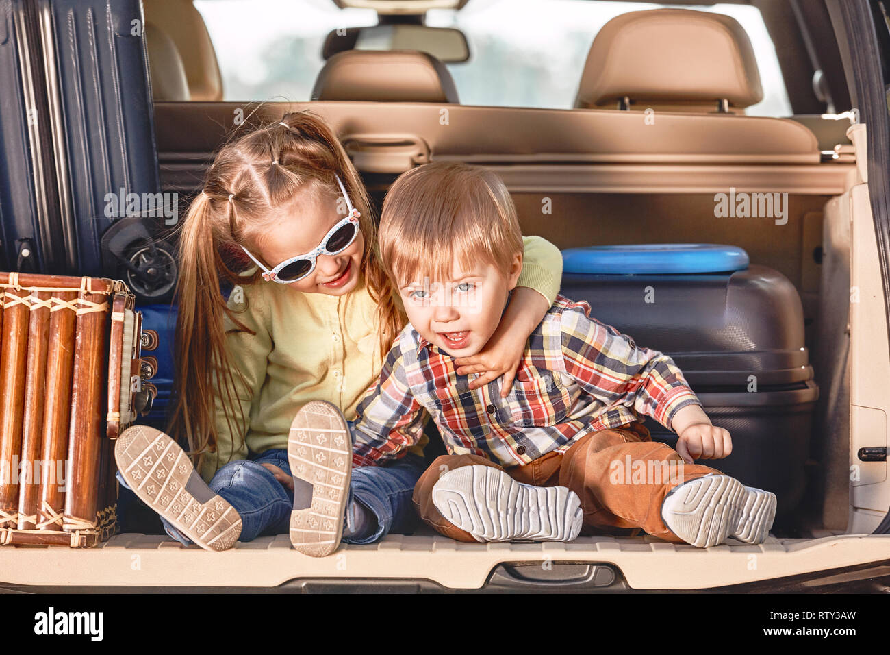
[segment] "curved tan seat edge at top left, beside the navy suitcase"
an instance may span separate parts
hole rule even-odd
[[[214,45],[191,0],[143,0],[142,8],[145,22],[173,39],[185,68],[191,100],[222,101],[223,76]]]

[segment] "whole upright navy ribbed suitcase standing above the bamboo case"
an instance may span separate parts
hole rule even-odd
[[[124,278],[168,299],[178,222],[161,193],[139,0],[0,0],[4,270]],[[184,208],[183,208],[184,209]]]

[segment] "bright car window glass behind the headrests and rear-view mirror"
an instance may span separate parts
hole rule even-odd
[[[223,73],[227,101],[309,100],[332,29],[376,25],[369,9],[330,0],[195,0]],[[426,24],[464,31],[470,60],[448,64],[462,104],[569,109],[596,33],[625,12],[661,4],[593,0],[471,0],[431,10]],[[678,7],[681,5],[671,5]],[[764,100],[749,115],[788,116],[791,106],[775,46],[750,5],[683,5],[732,16],[754,46]]]

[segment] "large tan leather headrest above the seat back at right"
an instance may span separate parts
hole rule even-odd
[[[633,109],[654,102],[715,111],[720,99],[744,108],[760,102],[764,92],[751,42],[735,19],[654,9],[628,12],[603,26],[590,46],[575,106],[613,108],[625,96]]]

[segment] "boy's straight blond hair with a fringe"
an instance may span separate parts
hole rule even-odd
[[[451,277],[481,260],[507,274],[522,252],[516,208],[485,168],[437,162],[409,170],[386,193],[378,232],[386,273],[396,286]]]

